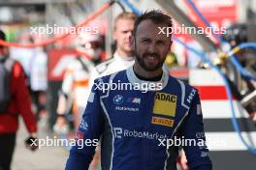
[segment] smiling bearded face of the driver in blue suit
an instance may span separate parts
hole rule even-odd
[[[138,25],[135,33],[136,65],[144,71],[162,71],[170,51],[171,38],[166,34],[158,34],[158,27],[167,27],[167,25],[155,24],[146,19]]]

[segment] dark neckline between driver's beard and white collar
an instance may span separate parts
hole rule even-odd
[[[160,68],[157,71],[145,71],[140,65],[139,63],[135,63],[133,70],[135,71],[135,73],[137,75],[139,75],[140,77],[144,77],[144,79],[150,79],[150,78],[154,78],[154,77],[158,77],[160,75],[163,74],[163,70],[162,68]]]

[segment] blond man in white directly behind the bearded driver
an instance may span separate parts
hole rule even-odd
[[[134,22],[137,15],[134,13],[118,14],[113,22],[113,40],[116,49],[112,59],[98,65],[93,71],[92,81],[98,76],[108,75],[116,71],[122,71],[134,64],[134,51],[132,50],[131,38]]]

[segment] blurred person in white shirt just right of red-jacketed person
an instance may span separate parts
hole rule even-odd
[[[42,40],[40,37],[23,33],[20,43],[35,43]],[[33,111],[36,113],[40,125],[47,125],[47,62],[48,56],[44,47],[11,47],[10,57],[18,61],[27,76],[27,86],[31,94]],[[42,126],[44,127],[44,126]]]

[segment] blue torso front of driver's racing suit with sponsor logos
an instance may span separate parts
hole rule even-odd
[[[112,81],[127,83],[119,74]],[[170,138],[185,115],[180,96],[176,82],[157,92],[110,91],[103,102],[112,124],[113,169],[164,169],[167,152],[159,139]]]

